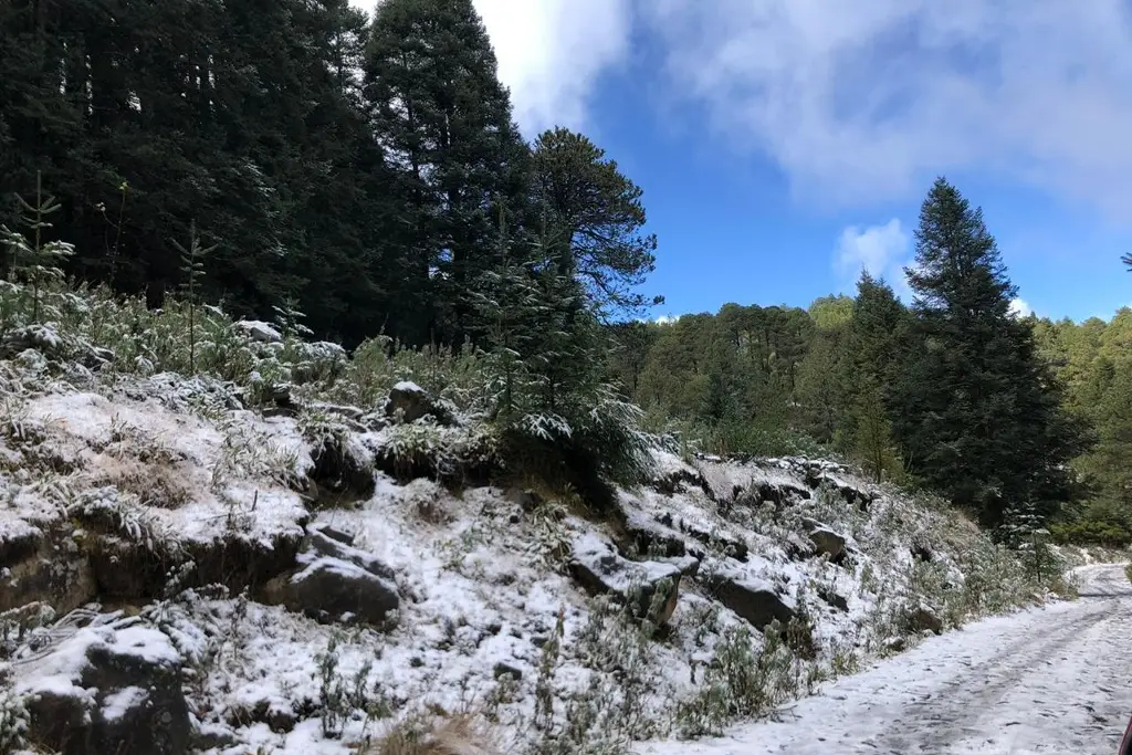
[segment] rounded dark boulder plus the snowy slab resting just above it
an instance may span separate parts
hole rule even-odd
[[[300,568],[268,582],[264,601],[319,621],[386,626],[401,606],[393,570],[348,540],[325,525],[308,527]]]

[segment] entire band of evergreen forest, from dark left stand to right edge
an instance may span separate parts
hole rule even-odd
[[[1126,315],[1014,317],[981,214],[943,180],[914,302],[866,274],[807,310],[649,324],[642,190],[582,134],[523,138],[470,0],[372,19],[346,0],[17,0],[0,45],[0,223],[28,239],[8,275],[59,265],[348,349],[478,350],[496,420],[566,437],[619,391],[686,448],[833,451],[988,525],[1127,538]]]

